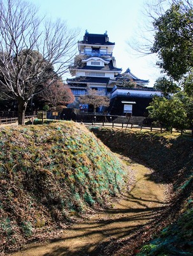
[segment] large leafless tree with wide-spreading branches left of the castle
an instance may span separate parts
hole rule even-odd
[[[18,124],[27,103],[68,72],[77,31],[66,23],[38,19],[37,9],[20,0],[0,0],[0,94],[18,102]]]

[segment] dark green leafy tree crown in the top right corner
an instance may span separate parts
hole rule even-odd
[[[154,46],[157,63],[175,81],[193,67],[193,8],[189,1],[175,1],[169,10],[154,21]]]

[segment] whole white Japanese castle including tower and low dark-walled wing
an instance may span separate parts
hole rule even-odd
[[[152,97],[161,92],[148,88],[148,80],[139,79],[127,70],[121,74],[122,68],[117,68],[113,48],[107,33],[90,34],[85,32],[82,41],[78,41],[79,54],[74,64],[69,67],[71,76],[67,79],[69,88],[78,100],[85,95],[87,88],[101,91],[110,97],[110,115],[144,116]],[[89,107],[89,106],[88,106]],[[103,106],[99,111],[103,111]]]

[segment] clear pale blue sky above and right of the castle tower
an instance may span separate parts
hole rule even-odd
[[[123,72],[129,67],[132,74],[149,79],[153,86],[160,76],[155,58],[134,55],[127,42],[136,40],[147,17],[143,15],[145,0],[27,0],[39,7],[39,15],[67,22],[71,29],[80,29],[78,40],[85,30],[103,34],[107,31],[110,42],[115,42],[113,56]]]

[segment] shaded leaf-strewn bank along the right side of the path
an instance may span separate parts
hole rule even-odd
[[[98,127],[92,131],[108,147],[152,168],[154,173],[148,177],[150,180],[173,184],[173,202],[162,225],[175,221],[138,255],[193,255],[192,138]],[[127,249],[122,255],[128,255]]]

